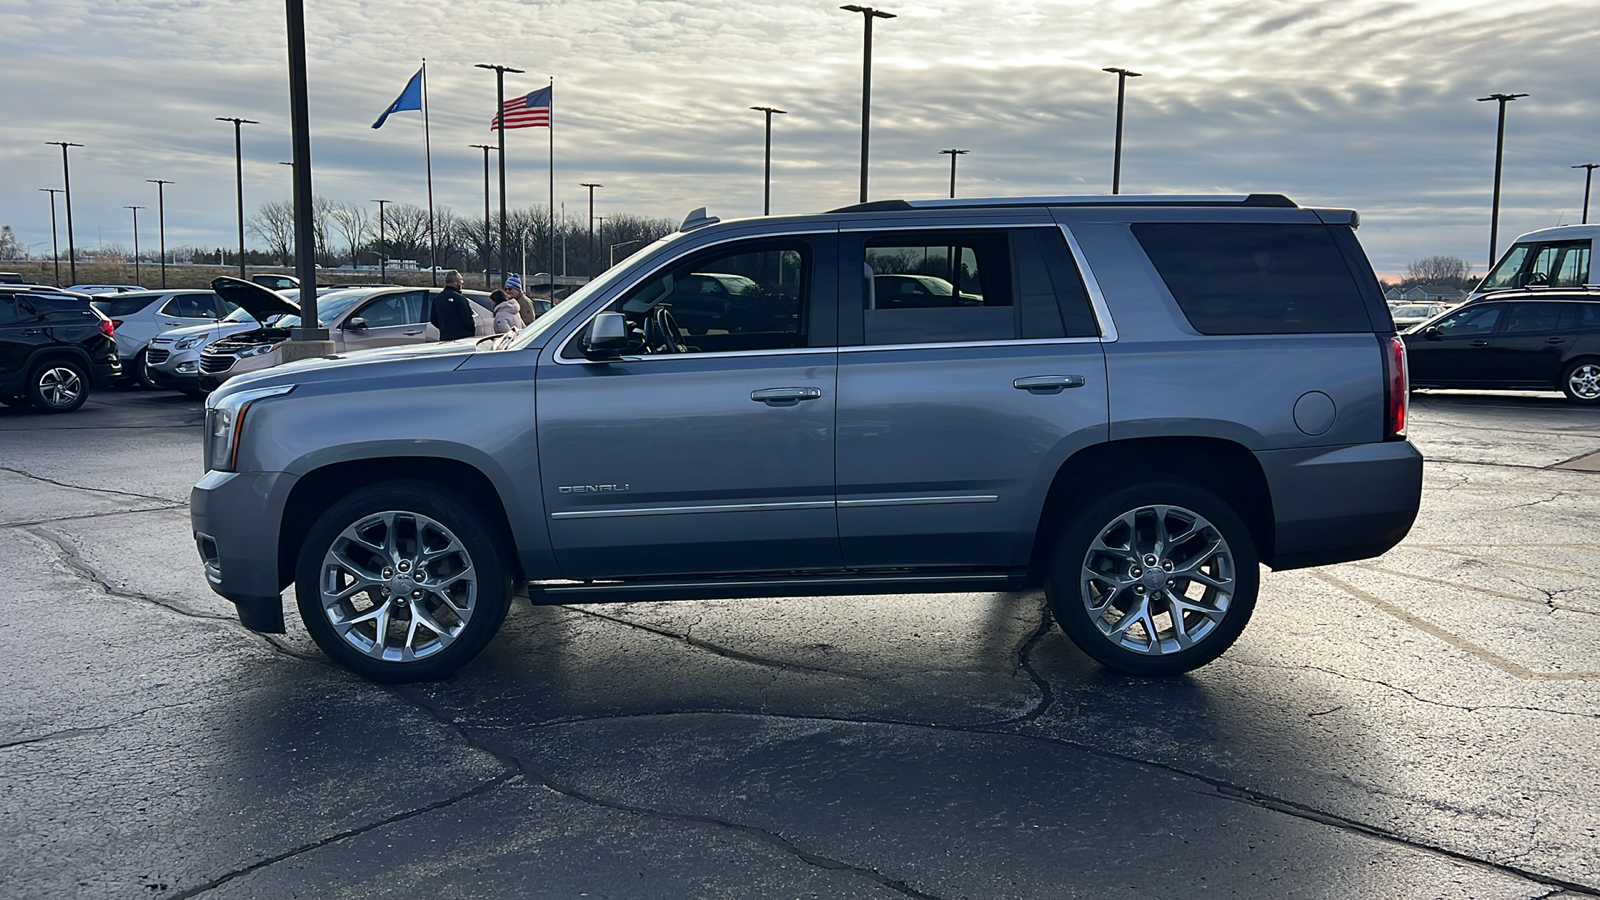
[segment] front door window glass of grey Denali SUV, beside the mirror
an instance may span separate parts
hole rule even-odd
[[[811,250],[746,243],[658,272],[608,309],[627,319],[622,356],[747,352],[806,346]],[[581,359],[579,341],[563,356]]]

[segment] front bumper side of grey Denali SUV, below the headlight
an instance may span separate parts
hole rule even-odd
[[[283,633],[278,524],[294,482],[285,472],[206,472],[189,493],[206,583],[251,631]]]

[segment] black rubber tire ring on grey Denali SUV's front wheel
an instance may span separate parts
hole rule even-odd
[[[414,663],[373,660],[350,647],[334,631],[322,609],[322,560],[339,533],[373,512],[389,509],[427,516],[454,532],[478,572],[477,609],[467,628],[438,653]],[[446,677],[472,661],[499,631],[510,607],[510,551],[483,516],[472,512],[459,498],[427,482],[386,482],[371,485],[330,506],[306,532],[294,565],[294,597],[306,631],[333,661],[386,684],[434,681]]]

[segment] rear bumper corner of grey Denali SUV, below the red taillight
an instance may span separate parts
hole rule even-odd
[[[1406,440],[1256,453],[1272,490],[1272,569],[1370,559],[1400,543],[1422,503]]]

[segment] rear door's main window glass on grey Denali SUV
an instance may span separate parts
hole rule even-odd
[[[866,240],[869,344],[1018,336],[1008,232],[894,232]]]

